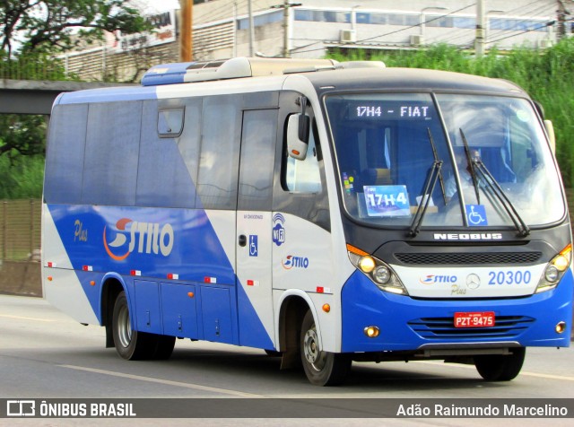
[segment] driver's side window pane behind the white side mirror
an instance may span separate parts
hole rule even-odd
[[[285,153],[283,167],[283,189],[293,193],[320,193],[321,175],[319,171],[320,153],[317,138],[317,124],[313,120],[312,132],[309,133],[309,148],[305,160],[298,161]]]

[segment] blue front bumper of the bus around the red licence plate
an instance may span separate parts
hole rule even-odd
[[[359,271],[345,283],[342,352],[401,351],[423,344],[517,342],[523,346],[570,345],[570,327],[554,332],[561,321],[570,326],[572,272],[569,269],[556,289],[530,297],[504,300],[415,300],[382,292]],[[494,311],[495,327],[454,327],[459,311]],[[367,337],[365,327],[377,326],[380,334]]]

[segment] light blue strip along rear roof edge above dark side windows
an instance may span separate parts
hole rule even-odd
[[[83,104],[87,102],[113,102],[117,100],[156,100],[154,87],[127,86],[66,92],[57,100],[58,104]]]

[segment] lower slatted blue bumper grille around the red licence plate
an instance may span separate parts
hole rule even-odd
[[[453,318],[418,318],[409,327],[424,339],[514,338],[534,323],[525,316],[500,316],[493,327],[455,327]]]

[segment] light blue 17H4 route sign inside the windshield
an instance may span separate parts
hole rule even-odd
[[[369,216],[410,216],[406,186],[364,186]]]

